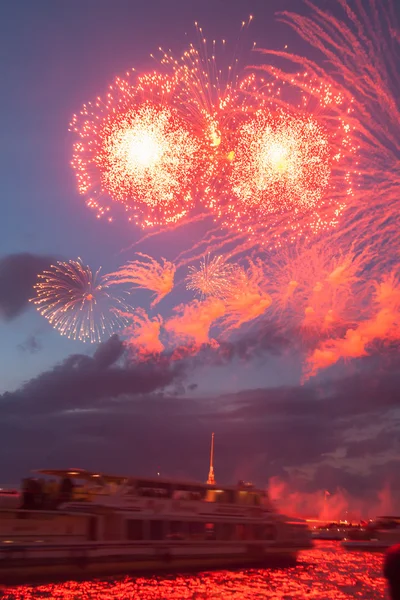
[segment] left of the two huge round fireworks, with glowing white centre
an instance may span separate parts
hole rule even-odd
[[[173,106],[174,88],[173,76],[117,79],[104,102],[74,116],[72,165],[98,216],[109,212],[107,198],[143,227],[174,223],[193,205],[204,149]]]

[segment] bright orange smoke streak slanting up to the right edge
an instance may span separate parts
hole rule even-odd
[[[367,356],[377,341],[400,341],[400,281],[394,274],[376,284],[375,305],[369,319],[348,329],[343,338],[329,339],[314,350],[307,359],[306,378],[340,359]]]

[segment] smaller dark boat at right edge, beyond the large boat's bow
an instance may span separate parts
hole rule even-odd
[[[384,552],[395,544],[400,544],[400,517],[393,516],[377,517],[342,542],[347,550],[372,552]]]

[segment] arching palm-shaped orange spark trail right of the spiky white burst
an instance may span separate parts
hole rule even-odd
[[[174,287],[176,267],[165,258],[159,263],[147,254],[137,252],[137,255],[139,260],[129,261],[115,273],[110,273],[108,282],[109,285],[130,283],[136,288],[152,290],[155,297],[150,306],[153,307]]]

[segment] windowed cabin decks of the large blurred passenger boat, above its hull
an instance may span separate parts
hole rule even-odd
[[[244,482],[219,487],[78,469],[37,474],[25,481],[21,509],[0,511],[0,545],[272,542],[287,528],[267,493]]]

